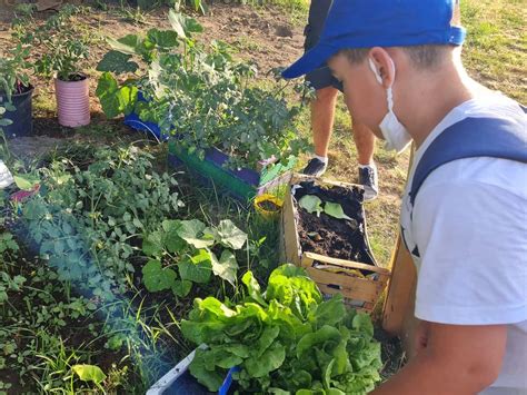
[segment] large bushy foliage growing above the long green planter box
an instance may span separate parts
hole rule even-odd
[[[202,31],[196,20],[171,10],[169,21],[171,30],[110,40],[97,89],[108,117],[133,111],[200,158],[208,148],[220,149],[231,167],[287,161],[308,147],[295,126],[300,107],[286,101],[291,82],[256,87],[253,65],[236,63],[222,42],[205,47],[195,40]]]

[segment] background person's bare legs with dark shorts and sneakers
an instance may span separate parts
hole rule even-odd
[[[322,32],[324,23],[332,0],[311,0],[308,24],[304,31],[306,50],[315,47]],[[337,95],[342,90],[331,75],[328,65],[320,65],[306,75],[306,81],[316,90],[311,102],[311,129],[315,155],[308,161],[304,174],[320,177],[328,166],[328,148],[335,119]],[[374,161],[375,136],[366,126],[354,121],[354,140],[358,156],[358,182],[365,187],[365,200],[372,200],[379,192],[377,167]]]

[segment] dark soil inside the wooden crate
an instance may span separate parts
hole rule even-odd
[[[375,265],[366,238],[362,191],[359,188],[347,189],[337,186],[326,189],[312,181],[299,185],[301,188],[296,190],[294,197],[299,214],[298,234],[302,251]],[[337,219],[325,213],[321,213],[320,217],[307,213],[297,204],[306,195],[340,204],[344,213],[352,220]]]

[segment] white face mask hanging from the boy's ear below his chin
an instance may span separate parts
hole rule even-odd
[[[368,61],[371,71],[375,73],[375,78],[379,83],[382,85],[382,78],[377,71],[374,61],[371,59],[368,59]],[[395,73],[394,61],[391,59],[390,61]],[[405,126],[399,121],[394,112],[394,93],[391,91],[391,86],[386,90],[386,95],[388,97],[388,113],[385,116],[385,118],[382,118],[382,121],[379,125],[380,131],[382,131],[382,136],[386,140],[385,148],[387,150],[402,152],[405,148],[411,142],[411,136],[408,134],[408,130],[406,130]]]

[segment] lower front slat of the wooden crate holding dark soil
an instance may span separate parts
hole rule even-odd
[[[384,284],[379,282],[372,282],[369,279],[350,277],[337,273],[329,273],[312,267],[306,268],[309,277],[312,278],[320,286],[334,285],[336,287],[329,287],[334,293],[340,293],[344,297],[351,299],[365,300],[375,303],[377,297],[384,289]]]

